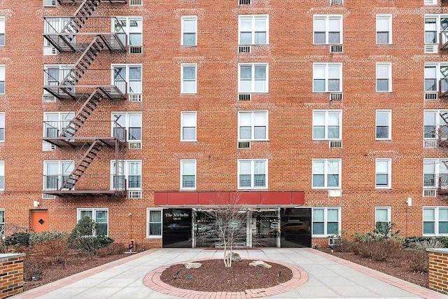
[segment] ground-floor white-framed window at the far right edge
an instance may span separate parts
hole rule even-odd
[[[423,207],[423,235],[448,235],[448,207]]]

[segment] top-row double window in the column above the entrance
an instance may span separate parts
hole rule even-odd
[[[267,45],[269,43],[269,15],[239,15],[239,45]]]

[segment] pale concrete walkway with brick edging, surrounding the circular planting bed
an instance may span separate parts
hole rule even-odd
[[[448,298],[315,249],[269,248],[237,252],[241,258],[279,260],[297,265],[307,272],[307,282],[292,291],[269,298]],[[144,277],[163,265],[222,256],[223,251],[216,250],[151,249],[34,288],[13,298],[179,298],[174,296],[175,293],[166,295],[148,288],[144,285]],[[209,298],[225,297],[210,295]]]

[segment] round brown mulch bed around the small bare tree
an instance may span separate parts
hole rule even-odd
[[[241,260],[224,267],[222,259],[200,260],[202,266],[186,269],[183,264],[176,264],[162,272],[160,279],[176,288],[205,292],[239,292],[254,288],[269,288],[290,280],[293,273],[288,267],[268,263],[272,268],[249,266],[253,260]],[[179,278],[174,278],[179,272]]]

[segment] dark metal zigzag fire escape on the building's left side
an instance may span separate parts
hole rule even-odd
[[[76,111],[73,119],[64,122],[64,126],[60,130],[55,130],[56,134],[45,134],[43,140],[58,147],[72,147],[81,149],[87,148],[87,151],[80,158],[79,162],[73,167],[73,171],[65,176],[59,176],[57,183],[50,183],[53,188],[51,190],[43,190],[43,194],[58,195],[59,197],[73,196],[73,195],[109,195],[124,197],[127,195],[126,182],[123,173],[123,160],[125,154],[125,143],[127,133],[125,128],[120,127],[118,123],[113,122],[113,137],[97,136],[94,133],[95,129],[92,127],[92,133],[89,137],[77,136],[77,132],[82,129],[87,122],[90,115],[93,113],[102,100],[126,100],[127,97],[123,90],[127,90],[126,86],[116,85],[80,85],[78,82],[83,78],[90,68],[90,65],[97,58],[102,51],[109,53],[126,53],[126,35],[124,32],[86,32],[83,27],[86,26],[87,20],[92,17],[97,6],[102,2],[101,0],[57,0],[59,4],[78,4],[80,6],[73,14],[73,16],[65,18],[68,20],[62,30],[53,28],[52,33],[43,34],[48,43],[53,46],[59,53],[73,53],[74,57],[78,56],[74,66],[64,69],[62,74],[44,70],[45,85],[43,89],[48,94],[53,95],[59,100],[74,101],[83,103],[80,109]],[[104,1],[104,0],[103,0]],[[126,0],[108,0],[110,4],[126,4]],[[44,18],[45,22],[51,25],[51,20],[54,17]],[[101,18],[101,17],[100,17]],[[104,19],[103,19],[104,20]],[[105,20],[111,20],[107,18]],[[110,23],[109,23],[110,24]],[[88,30],[89,27],[87,27]],[[60,29],[60,28],[59,28]],[[83,29],[83,30],[81,30]],[[124,39],[123,39],[124,36]],[[120,39],[121,37],[121,39]],[[91,69],[91,71],[94,71]],[[110,70],[109,70],[110,71]],[[62,75],[62,76],[61,76]],[[117,76],[117,74],[116,74]],[[92,77],[92,76],[90,76]],[[89,77],[89,83],[91,78]],[[96,78],[94,76],[93,78]],[[123,83],[121,83],[123,85]],[[120,88],[119,88],[120,87]],[[48,125],[48,124],[47,124]],[[56,129],[53,127],[52,129]],[[86,130],[84,132],[87,132]],[[96,190],[98,187],[88,188],[90,190],[78,190],[75,186],[80,181],[88,167],[92,164],[102,148],[112,148],[115,150],[116,167],[112,178],[111,190]],[[107,170],[109,177],[109,169]],[[52,179],[52,178],[46,178]],[[90,185],[96,185],[92,181],[88,182]],[[89,184],[81,184],[88,186]],[[79,184],[78,184],[79,185]]]

